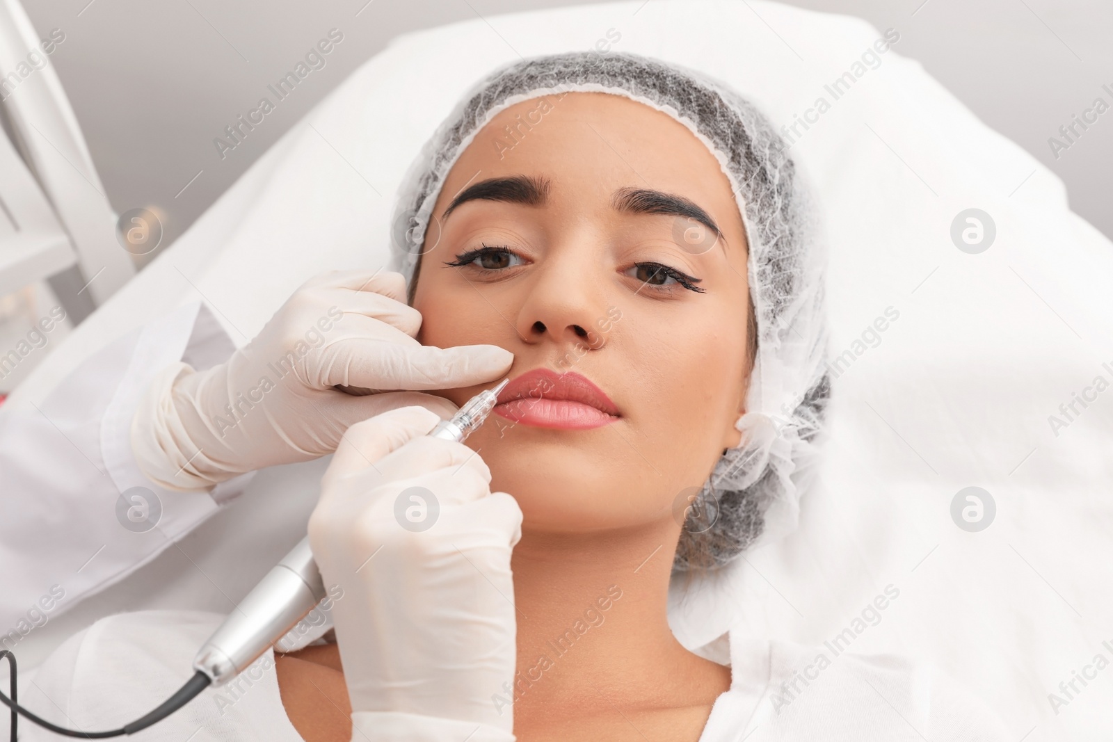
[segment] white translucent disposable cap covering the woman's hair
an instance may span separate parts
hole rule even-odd
[[[403,181],[391,267],[412,280],[444,180],[484,125],[520,101],[580,91],[626,96],[688,127],[719,160],[746,227],[758,352],[736,423],[741,443],[689,509],[673,563],[722,566],[796,527],[830,393],[812,210],[784,141],[752,103],[702,73],[630,53],[570,52],[496,70],[464,96]]]

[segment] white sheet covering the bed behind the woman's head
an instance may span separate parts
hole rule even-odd
[[[609,31],[621,36],[614,50],[705,69],[780,123],[820,96],[830,101],[825,85],[854,70],[880,36],[858,20],[759,0],[634,0],[402,37],[7,404],[41,399],[80,357],[183,303],[205,298],[242,344],[308,275],[382,265],[396,184],[459,95],[519,53],[594,48]],[[802,502],[800,530],[739,562],[720,593],[736,604],[677,606],[673,627],[690,646],[731,620],[757,636],[821,643],[892,583],[899,600],[866,624],[855,651],[936,662],[973,686],[1017,740],[1107,739],[1109,680],[1076,682],[1071,699],[1058,684],[1099,653],[1113,659],[1102,644],[1113,640],[1113,506],[1104,496],[1113,394],[1072,415],[1057,436],[1048,416],[1095,376],[1113,382],[1102,365],[1113,368],[1103,311],[1113,250],[1068,210],[1054,175],[900,51],[898,41],[876,69],[863,67],[792,148],[818,187],[830,235],[831,349],[854,355],[836,380],[828,456]],[[994,244],[979,255],[951,238],[953,219],[972,207],[996,224]],[[855,346],[889,307],[899,316],[880,343]],[[252,487],[266,482],[260,475]],[[949,514],[954,495],[971,485],[997,505],[981,533],[961,531]],[[270,516],[252,487],[237,513],[203,526],[225,531],[196,536],[211,548],[201,568],[228,554],[240,560],[245,578],[221,585],[232,600],[272,557],[217,536],[250,524],[256,533],[260,523],[297,527]],[[288,507],[287,517],[304,505]],[[177,593],[169,585],[154,598],[129,594],[126,607],[227,610],[188,572],[176,574]],[[194,602],[205,604],[185,604],[203,588]],[[101,601],[99,611],[119,607]],[[1053,692],[1068,701],[1057,714]]]

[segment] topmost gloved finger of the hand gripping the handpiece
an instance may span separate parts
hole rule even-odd
[[[334,492],[336,479],[373,467],[408,441],[430,433],[440,422],[436,413],[424,407],[400,407],[349,426],[322,478],[322,501]]]

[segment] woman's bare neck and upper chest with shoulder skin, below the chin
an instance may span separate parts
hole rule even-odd
[[[524,533],[514,547],[518,672],[492,689],[520,740],[697,740],[730,670],[684,650],[668,624],[676,533]],[[277,656],[294,728],[351,738],[336,644]],[[667,713],[661,713],[662,711]]]

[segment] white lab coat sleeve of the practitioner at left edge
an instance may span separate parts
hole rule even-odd
[[[131,416],[159,369],[176,360],[207,368],[234,349],[215,316],[193,303],[92,354],[38,405],[0,406],[0,645],[21,666],[61,639],[43,641],[49,624],[155,560],[244,491],[254,473],[211,493],[164,489],[139,471],[129,443]],[[117,514],[121,493],[137,486],[155,493],[151,506],[161,508],[144,533],[124,527]]]

